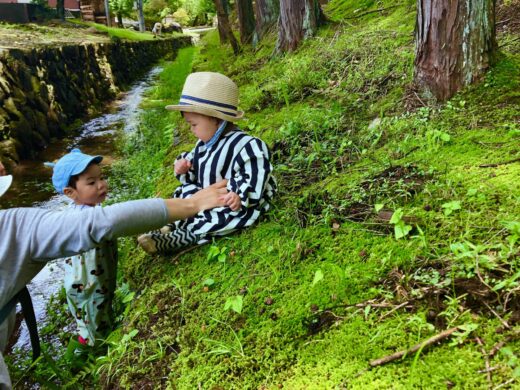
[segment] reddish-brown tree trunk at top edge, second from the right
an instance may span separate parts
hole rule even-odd
[[[300,41],[313,36],[322,23],[318,0],[280,0],[276,51],[296,49]]]

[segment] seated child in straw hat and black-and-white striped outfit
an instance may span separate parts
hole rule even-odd
[[[243,117],[237,110],[238,88],[228,77],[213,72],[192,73],[186,79],[178,105],[199,139],[189,153],[175,162],[175,174],[181,185],[174,198],[189,198],[197,191],[227,179],[226,207],[218,207],[177,221],[160,232],[138,238],[150,253],[170,252],[204,243],[255,223],[269,209],[276,183],[266,144],[240,130],[233,123]]]

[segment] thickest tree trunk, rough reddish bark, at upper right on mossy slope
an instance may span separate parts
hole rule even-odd
[[[497,50],[495,0],[417,0],[415,82],[449,99],[489,68]]]

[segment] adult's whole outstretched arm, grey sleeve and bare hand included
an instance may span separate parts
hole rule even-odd
[[[70,256],[91,249],[103,240],[158,229],[167,222],[221,206],[225,185],[223,181],[190,199],[136,200],[74,212],[25,209],[33,211],[18,211],[16,226],[23,228],[6,229],[2,233],[6,233],[10,242],[27,245],[19,249],[35,260]],[[16,212],[13,209],[13,213]]]

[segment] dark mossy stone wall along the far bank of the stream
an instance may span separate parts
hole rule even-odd
[[[0,161],[31,158],[190,38],[0,51]]]

